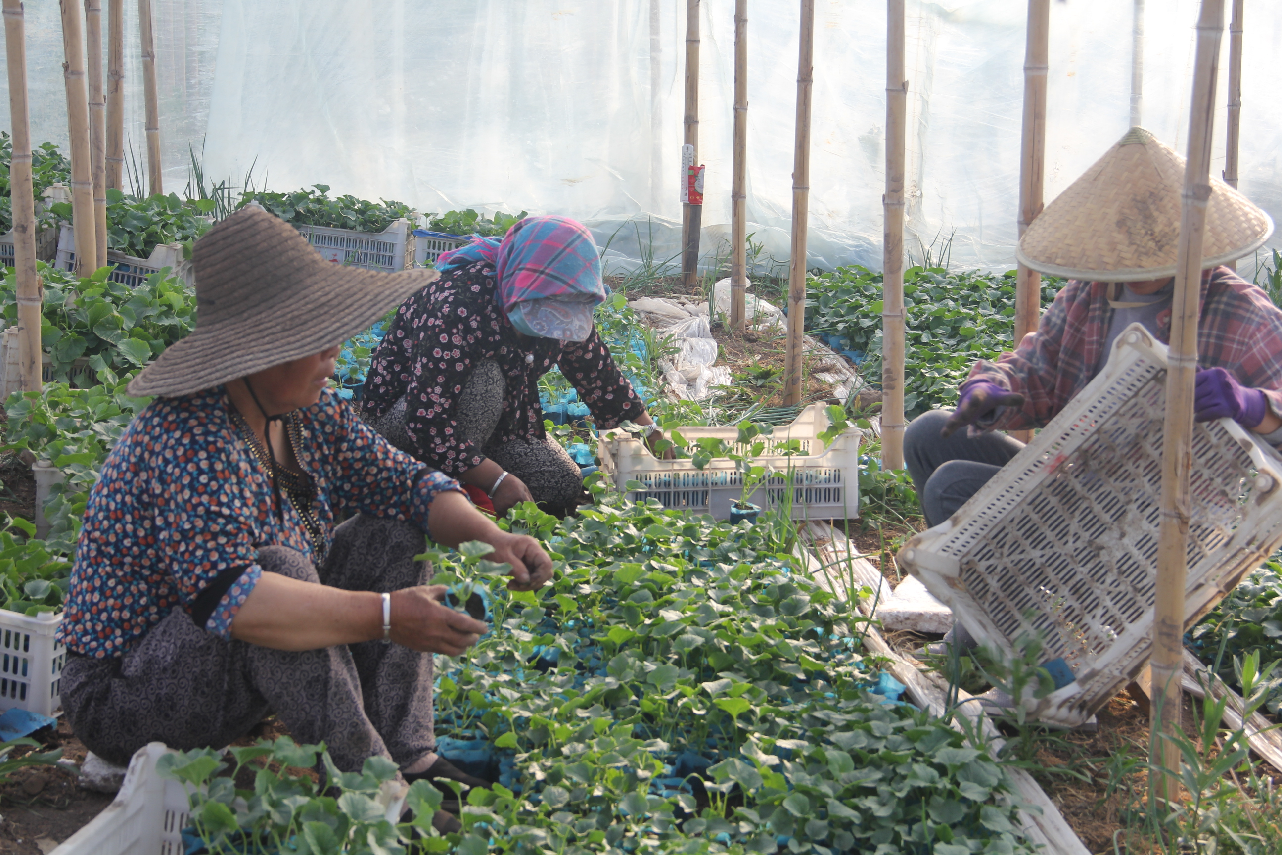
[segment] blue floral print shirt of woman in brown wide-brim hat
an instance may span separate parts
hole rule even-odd
[[[223,387],[156,399],[129,423],[90,494],[59,638],[72,651],[119,656],[174,609],[192,611],[219,587],[204,626],[229,637],[231,623],[262,576],[258,549],[290,546],[322,561],[335,511],[362,511],[427,531],[428,505],[453,478],[397,451],[326,390],[294,414],[295,456],[315,485],[313,515],[323,542],[283,497],[231,420]],[[212,597],[206,596],[206,600]],[[204,611],[204,609],[203,609]]]

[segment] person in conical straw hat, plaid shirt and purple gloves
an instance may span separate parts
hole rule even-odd
[[[1029,224],[1017,256],[1068,283],[1036,332],[979,360],[955,410],[908,426],[904,458],[937,526],[1023,447],[999,431],[1044,427],[1104,368],[1113,340],[1140,323],[1170,338],[1183,159],[1131,128]],[[1273,222],[1211,181],[1197,322],[1196,418],[1231,417],[1282,446],[1282,311],[1226,261],[1268,240]]]

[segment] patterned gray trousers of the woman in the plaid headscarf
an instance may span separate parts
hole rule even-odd
[[[565,449],[551,437],[504,444],[491,441],[503,417],[506,388],[499,363],[477,363],[455,406],[459,431],[479,446],[485,456],[520,478],[545,513],[564,517],[587,501],[583,476]],[[370,419],[369,424],[401,451],[417,454],[415,444],[405,431],[404,396],[382,418]]]

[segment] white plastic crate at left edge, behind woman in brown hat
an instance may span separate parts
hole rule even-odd
[[[54,638],[62,624],[53,611],[28,618],[0,609],[0,713],[19,706],[53,715],[63,708],[67,647]]]

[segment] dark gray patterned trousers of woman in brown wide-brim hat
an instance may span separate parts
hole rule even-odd
[[[286,546],[258,552],[267,573],[347,591],[397,591],[429,576],[423,535],[358,515],[335,529],[322,568]],[[223,747],[274,711],[300,743],[324,741],[335,764],[359,772],[381,755],[410,765],[436,746],[432,655],[367,641],[285,651],[224,641],[171,611],[123,656],[69,656],[63,709],[76,736],[121,765],[147,742]]]

